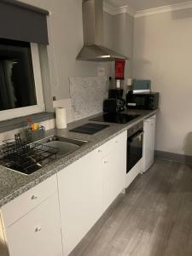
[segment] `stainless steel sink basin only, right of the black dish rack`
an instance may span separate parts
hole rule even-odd
[[[38,143],[44,144],[49,147],[53,147],[57,149],[57,155],[65,155],[72,153],[77,150],[81,146],[83,146],[87,141],[81,141],[77,139],[67,138],[67,137],[59,137],[59,136],[51,136],[44,138]]]

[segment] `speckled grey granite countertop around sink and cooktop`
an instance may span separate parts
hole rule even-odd
[[[125,110],[124,113],[134,113],[139,114],[140,116],[137,119],[127,123],[126,125],[108,123],[110,126],[107,129],[99,131],[95,135],[86,135],[68,131],[73,127],[87,123],[88,120],[92,117],[75,121],[69,124],[67,129],[55,129],[46,131],[46,137],[51,135],[59,135],[62,137],[71,137],[89,142],[84,144],[78,150],[74,151],[72,154],[67,154],[67,156],[62,157],[59,160],[55,160],[53,163],[49,164],[48,166],[44,166],[44,168],[32,173],[29,176],[20,174],[18,172],[13,172],[3,166],[0,166],[0,207],[3,207],[3,205],[26,192],[28,189],[31,189],[38,183],[43,182],[46,178],[54,175],[56,172],[60,172],[66,166],[70,165],[76,160],[79,160],[79,158],[83,157],[85,154],[90,153],[90,151],[94,150],[95,148],[98,148],[103,143],[108,142],[108,140],[119,135],[119,133],[131,128],[132,125],[136,125],[141,120],[153,115],[156,113],[156,110]]]

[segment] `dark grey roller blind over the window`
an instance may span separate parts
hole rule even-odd
[[[15,0],[0,0],[0,38],[49,44],[49,12]]]

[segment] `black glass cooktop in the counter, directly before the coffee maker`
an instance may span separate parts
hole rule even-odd
[[[90,121],[96,122],[107,122],[115,124],[127,124],[133,119],[137,119],[139,114],[129,114],[129,113],[103,113]]]

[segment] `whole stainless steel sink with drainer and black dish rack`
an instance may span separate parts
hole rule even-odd
[[[0,147],[0,166],[30,175],[64,155],[73,153],[87,141],[51,136],[34,143],[7,141]]]

